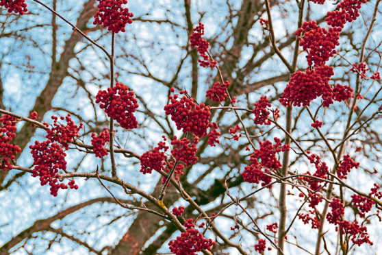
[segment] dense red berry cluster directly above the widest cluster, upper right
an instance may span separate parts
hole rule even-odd
[[[298,28],[296,35],[300,46],[307,51],[309,66],[322,66],[336,53],[335,47],[340,45],[340,27],[329,27],[329,30],[319,27],[316,21],[306,21]]]

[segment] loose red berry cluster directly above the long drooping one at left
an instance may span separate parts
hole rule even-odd
[[[70,113],[66,117],[60,117],[62,121],[66,120],[66,125],[58,123],[58,117],[52,116],[51,118],[54,121],[51,128],[47,123],[44,123],[47,126],[46,137],[53,142],[60,143],[65,149],[69,149],[69,144],[73,143],[73,138],[79,137],[79,130],[83,127],[82,123],[79,126],[75,125]]]

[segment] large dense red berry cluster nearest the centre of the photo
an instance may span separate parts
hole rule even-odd
[[[205,104],[196,105],[194,99],[188,97],[187,91],[181,90],[180,94],[185,95],[181,98],[177,94],[168,96],[170,104],[164,106],[166,114],[171,115],[177,130],[182,130],[183,133],[192,132],[199,137],[207,135],[210,107]]]

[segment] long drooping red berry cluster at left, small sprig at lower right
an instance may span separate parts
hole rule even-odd
[[[40,176],[41,186],[49,183],[51,186],[51,195],[57,196],[59,189],[68,189],[68,186],[64,183],[58,183],[59,175],[58,171],[66,171],[66,154],[58,143],[52,143],[47,140],[42,143],[36,141],[34,145],[30,145],[31,155],[34,159],[34,169],[32,170],[32,176]],[[69,184],[71,189],[78,189],[78,186],[74,184],[72,180]]]

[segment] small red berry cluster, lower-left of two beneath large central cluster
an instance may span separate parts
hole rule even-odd
[[[166,141],[166,137],[162,136],[164,141]],[[163,150],[163,151],[161,151]],[[168,150],[168,146],[166,146],[165,142],[159,142],[158,146],[152,149],[151,151],[146,151],[142,156],[140,156],[140,171],[143,174],[151,173],[151,171],[162,171],[164,167],[166,167],[166,152]]]

